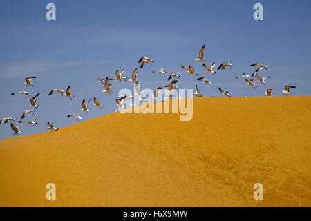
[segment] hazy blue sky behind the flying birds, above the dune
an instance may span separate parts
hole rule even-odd
[[[56,6],[56,21],[46,21],[46,5]],[[263,4],[263,21],[254,21],[253,6]],[[1,1],[0,5],[0,118],[19,119],[31,109],[29,99],[41,93],[35,115],[37,126],[23,124],[23,135],[46,131],[46,122],[57,127],[75,124],[67,119],[79,113],[84,120],[115,111],[118,90],[133,84],[113,83],[113,95],[104,90],[97,77],[114,77],[116,69],[125,68],[129,76],[139,66],[142,55],[155,64],[138,70],[140,88],[167,84],[167,77],[151,70],[166,67],[181,75],[180,88],[195,88],[203,96],[221,96],[217,88],[229,90],[233,97],[263,96],[267,88],[282,95],[285,84],[295,85],[294,95],[311,95],[311,15],[310,1]],[[205,72],[194,61],[205,44],[205,59],[210,66],[223,61],[234,68]],[[249,64],[269,66],[262,76],[272,76],[265,86],[247,86],[238,74],[252,73]],[[213,85],[206,86],[188,75],[180,65],[189,64],[200,77]],[[37,76],[34,87],[23,86],[23,79]],[[48,97],[53,88],[72,87],[74,99]],[[27,90],[30,95],[10,93]],[[82,99],[97,97],[104,105],[91,106],[84,115]],[[10,124],[0,125],[0,139],[12,137]]]

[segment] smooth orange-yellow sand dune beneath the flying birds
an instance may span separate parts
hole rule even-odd
[[[196,98],[189,122],[112,113],[2,140],[0,206],[311,206],[310,131],[311,97]]]

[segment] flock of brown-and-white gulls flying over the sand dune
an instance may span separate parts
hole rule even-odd
[[[207,73],[211,73],[211,76],[214,76],[216,74],[216,70],[215,70],[216,63],[215,63],[215,61],[213,61],[213,63],[211,64],[210,67],[207,66],[207,64],[205,64],[207,61],[204,60],[204,53],[205,53],[205,45],[202,46],[202,48],[199,51],[198,57],[195,58],[194,61],[201,62],[204,70],[207,71]],[[142,56],[138,60],[138,63],[140,64],[140,68],[143,68],[144,66],[146,66],[149,63],[153,64],[154,62],[155,61],[153,61],[153,59],[150,59],[149,57],[146,57],[146,56]],[[255,80],[252,78],[258,79],[258,84],[266,84],[265,81],[267,79],[271,78],[271,76],[261,77],[261,75],[259,74],[259,72],[261,70],[267,70],[268,69],[267,66],[265,66],[261,63],[254,63],[254,64],[251,64],[250,66],[256,67],[256,70],[254,70],[254,73],[252,73],[252,75],[243,73],[241,75],[238,75],[235,78],[236,79],[238,79],[239,77],[245,78],[245,83],[248,86],[251,86],[253,88],[258,88],[258,86],[256,85]],[[217,70],[225,70],[226,68],[229,68],[229,67],[233,68],[234,65],[230,64],[229,62],[223,62],[218,66]],[[189,74],[189,75],[198,76],[198,73],[195,72],[194,67],[191,65],[189,65],[189,66],[181,65],[181,68],[186,70],[187,74]],[[156,99],[156,100],[160,99],[159,93],[161,90],[164,90],[164,92],[165,92],[164,93],[164,99],[173,99],[172,91],[178,89],[177,83],[180,79],[180,75],[178,75],[174,72],[170,72],[168,74],[167,70],[165,70],[165,69],[166,68],[163,67],[160,70],[153,70],[151,72],[151,73],[155,73],[155,74],[163,75],[163,76],[168,75],[168,79],[167,79],[168,81],[171,81],[173,79],[166,86],[158,86],[158,88],[156,88],[156,90],[154,90],[154,92],[153,92],[153,95],[152,95],[153,99]],[[108,93],[109,95],[111,95],[113,93],[111,81],[119,81],[121,83],[127,81],[127,82],[131,82],[131,83],[135,84],[135,95],[138,95],[140,102],[149,102],[148,98],[143,99],[141,96],[140,84],[138,81],[138,68],[135,68],[135,70],[133,70],[133,73],[131,74],[131,78],[124,76],[124,70],[125,70],[125,68],[123,68],[121,71],[116,70],[115,71],[115,77],[97,78],[97,81],[99,83],[104,84],[104,90],[102,90],[102,93]],[[32,86],[33,87],[34,86],[34,84],[32,84],[33,79],[36,79],[36,77],[26,77],[25,82],[23,84],[26,86]],[[209,81],[209,79],[207,79],[207,77],[198,77],[198,78],[196,78],[196,80],[201,81],[202,84],[206,84],[209,86],[212,84],[211,81]],[[290,95],[290,94],[292,94],[290,89],[296,88],[296,86],[285,85],[284,88],[285,88],[285,90],[282,90],[282,93],[284,95]],[[227,91],[227,90],[225,91],[219,87],[218,87],[218,90],[225,97],[231,97],[231,95],[229,94],[229,91]],[[273,91],[274,91],[274,89],[267,89],[267,90],[265,90],[265,95],[266,96],[272,96]],[[48,93],[48,96],[53,95],[55,93],[60,93],[61,97],[69,97],[70,100],[72,100],[73,97],[75,97],[75,95],[72,95],[72,93],[71,93],[70,85],[68,86],[66,91],[62,90],[62,89],[53,88],[52,90],[50,90],[50,93]],[[29,95],[30,93],[27,91],[24,91],[24,90],[21,90],[19,92],[15,92],[15,93],[11,93],[11,95],[17,95],[17,94]],[[40,95],[40,93],[37,93],[37,95],[35,95],[34,97],[32,97],[30,99],[29,105],[35,109],[37,109],[39,107],[39,105],[37,104],[37,100],[39,98],[39,95]],[[200,93],[198,85],[196,85],[196,90],[194,91],[193,95],[196,97],[202,97],[202,93]],[[246,94],[245,97],[248,97],[248,95]],[[129,99],[133,99],[133,97],[124,95],[123,97],[116,98],[115,103],[117,104],[118,108],[125,108],[126,101]],[[100,109],[103,108],[103,105],[100,104],[100,101],[96,97],[93,97],[93,101],[94,101],[93,106],[100,108]],[[82,109],[80,111],[84,112],[85,115],[87,115],[88,112],[91,111],[91,109],[89,108],[90,102],[91,102],[91,99],[88,99],[87,102],[86,102],[86,99],[83,99],[81,102]],[[129,106],[132,106],[132,105],[129,104]],[[127,104],[126,104],[126,107],[127,107]],[[30,113],[34,114],[35,110],[23,111],[23,113],[21,115],[21,119],[17,121],[17,123],[18,123],[17,126],[15,126],[15,124],[13,123],[13,122],[15,122],[15,119],[12,117],[3,117],[2,119],[0,119],[0,124],[7,124],[10,122],[12,131],[14,131],[13,135],[20,135],[22,133],[20,130],[21,124],[26,123],[26,124],[30,124],[32,126],[35,126],[38,123],[37,122],[38,117],[36,117],[32,121],[22,120],[22,119],[26,118],[26,116],[29,115]],[[71,113],[71,114],[67,115],[67,117],[77,119],[77,121],[82,120],[82,117],[79,114]],[[49,131],[57,131],[58,130],[58,128],[56,128],[52,122],[47,122],[47,124],[48,124],[47,129]]]

